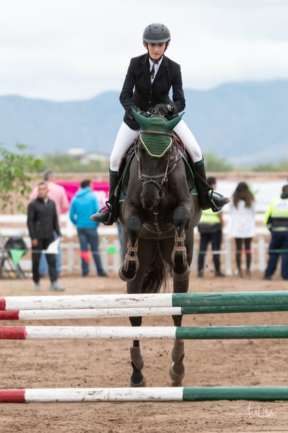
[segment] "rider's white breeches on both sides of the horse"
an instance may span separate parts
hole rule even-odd
[[[174,130],[182,139],[182,142],[185,144],[187,151],[193,158],[193,161],[198,162],[202,160],[200,146],[186,123],[183,120],[179,121]],[[133,144],[134,139],[138,137],[138,133],[139,130],[133,130],[129,128],[126,123],[122,122],[110,155],[110,169],[113,172],[118,172],[122,155],[127,151],[127,149],[129,149],[129,146]]]

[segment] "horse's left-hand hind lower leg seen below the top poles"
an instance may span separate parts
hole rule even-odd
[[[129,317],[131,326],[141,326],[142,317]],[[133,372],[131,374],[130,386],[140,387],[146,386],[145,377],[141,373],[144,367],[143,357],[141,355],[139,340],[133,341],[133,347],[130,348],[131,366]]]

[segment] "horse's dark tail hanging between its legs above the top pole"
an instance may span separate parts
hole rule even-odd
[[[142,293],[159,293],[161,285],[163,284],[165,289],[167,282],[167,268],[161,257],[159,243],[157,242],[154,258],[144,275]]]

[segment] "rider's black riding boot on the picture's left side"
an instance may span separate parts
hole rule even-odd
[[[118,173],[109,170],[109,199],[103,208],[90,216],[90,220],[102,222],[104,225],[112,225],[113,222],[117,222],[119,216],[119,195],[115,192],[115,189],[118,181]]]

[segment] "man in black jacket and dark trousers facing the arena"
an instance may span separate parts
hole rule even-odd
[[[27,226],[32,244],[32,273],[35,283],[34,290],[40,290],[39,261],[42,250],[47,250],[54,241],[54,232],[61,236],[56,213],[56,204],[48,197],[48,187],[45,182],[38,185],[38,197],[28,205]],[[50,290],[64,290],[58,285],[56,272],[56,255],[47,254]]]

